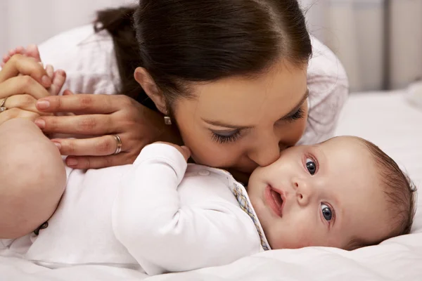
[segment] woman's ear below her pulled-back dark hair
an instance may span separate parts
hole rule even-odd
[[[155,106],[160,110],[164,115],[167,115],[167,104],[165,102],[165,97],[158,89],[157,84],[153,77],[146,71],[143,67],[136,67],[134,73],[135,80],[141,85],[143,91],[148,95],[151,100],[155,103]]]

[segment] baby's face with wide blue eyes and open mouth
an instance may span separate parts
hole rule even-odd
[[[272,249],[374,242],[389,230],[376,166],[353,137],[297,146],[256,169],[248,194]]]

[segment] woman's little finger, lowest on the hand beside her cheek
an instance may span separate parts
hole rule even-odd
[[[136,155],[128,156],[127,153],[108,156],[89,156],[89,157],[73,157],[66,158],[66,164],[75,169],[101,169],[108,166],[120,166],[124,164],[132,164],[136,159]]]

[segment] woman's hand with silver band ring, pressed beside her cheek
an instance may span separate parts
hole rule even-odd
[[[177,130],[164,124],[162,115],[132,98],[117,95],[77,94],[49,96],[37,102],[41,112],[73,112],[74,116],[43,116],[35,124],[44,133],[89,136],[56,138],[66,164],[78,169],[98,169],[132,164],[145,145],[155,141],[180,143]],[[120,137],[122,150],[117,150]]]

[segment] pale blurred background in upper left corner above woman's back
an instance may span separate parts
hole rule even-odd
[[[59,32],[95,19],[105,7],[136,0],[0,0],[0,54],[15,46],[39,44]]]

